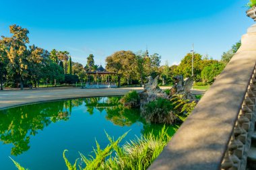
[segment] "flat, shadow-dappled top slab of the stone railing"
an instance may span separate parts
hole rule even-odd
[[[249,30],[253,32],[253,28]],[[220,169],[255,70],[255,44],[255,33],[243,36],[241,48],[150,166],[150,170]]]

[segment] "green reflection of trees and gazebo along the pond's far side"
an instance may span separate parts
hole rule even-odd
[[[147,124],[139,116],[139,110],[128,110],[119,103],[121,97],[90,97],[69,99],[47,103],[24,105],[8,110],[0,110],[0,140],[3,144],[13,144],[11,155],[21,155],[30,148],[30,138],[51,123],[68,121],[72,109],[82,107],[93,115],[104,112],[105,118],[117,126],[131,126],[136,122],[143,124],[141,133],[160,130],[162,125]],[[169,128],[173,134],[176,128]]]

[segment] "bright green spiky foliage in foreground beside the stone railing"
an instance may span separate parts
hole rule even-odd
[[[110,144],[106,148],[101,149],[96,141],[96,148],[94,148],[95,157],[89,155],[89,159],[80,153],[86,167],[79,167],[79,169],[147,169],[170,140],[165,126],[158,135],[150,132],[146,136],[141,136],[136,140],[127,142],[123,146],[119,146],[119,143],[126,135],[127,132],[117,140],[114,140],[106,133]],[[76,170],[77,167],[67,161],[65,152],[63,152],[63,157],[68,169]],[[113,156],[114,153],[115,156]]]

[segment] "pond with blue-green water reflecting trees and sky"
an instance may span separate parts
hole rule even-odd
[[[152,130],[158,133],[163,125],[146,123],[139,110],[123,108],[120,98],[67,99],[0,110],[1,169],[16,170],[9,157],[30,170],[67,169],[63,151],[69,151],[71,163],[79,152],[93,155],[95,140],[102,148],[108,144],[105,131],[117,139],[130,130],[121,144]],[[176,129],[169,126],[168,134]]]

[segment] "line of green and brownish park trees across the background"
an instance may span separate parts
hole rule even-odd
[[[0,85],[5,87],[20,87],[21,89],[34,85],[38,87],[40,83],[75,83],[91,79],[86,76],[86,72],[97,71],[102,67],[95,65],[94,55],[87,57],[84,67],[79,62],[72,62],[67,51],[44,50],[38,46],[28,46],[29,31],[20,26],[9,27],[11,37],[1,36],[0,39]],[[214,60],[209,56],[194,54],[194,73],[198,85],[211,84],[214,78],[221,73],[226,64],[241,46],[237,42],[230,50],[222,54],[221,60]],[[192,56],[188,53],[179,65],[160,66],[161,56],[154,53],[132,52],[121,50],[106,57],[106,71],[115,72],[115,76],[110,76],[111,81],[116,81],[121,85],[143,85],[146,77],[160,75],[162,85],[172,84],[172,77],[183,75],[190,77],[192,73]],[[101,68],[102,69],[102,68]],[[104,78],[106,79],[106,77]],[[101,79],[100,81],[106,81]]]

